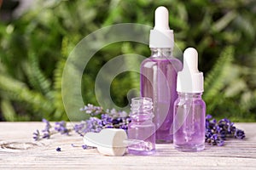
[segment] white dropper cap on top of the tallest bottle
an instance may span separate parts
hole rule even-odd
[[[154,12],[154,30],[150,30],[149,48],[173,48],[174,36],[169,27],[169,12],[160,6]]]

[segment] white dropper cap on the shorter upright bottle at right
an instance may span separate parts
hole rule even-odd
[[[202,93],[203,73],[198,71],[198,53],[195,48],[187,48],[183,54],[183,71],[177,72],[177,92]]]

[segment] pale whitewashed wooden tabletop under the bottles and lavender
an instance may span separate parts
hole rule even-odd
[[[55,134],[32,140],[42,122],[0,122],[0,169],[256,169],[256,123],[236,123],[246,139],[228,139],[222,147],[207,145],[196,153],[179,152],[172,144],[157,144],[154,156],[102,156],[83,150],[82,138]],[[75,144],[77,147],[73,147]],[[61,147],[61,152],[55,149]]]

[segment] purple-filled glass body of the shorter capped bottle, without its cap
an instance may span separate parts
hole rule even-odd
[[[205,148],[206,104],[201,94],[178,93],[173,122],[173,144],[177,150],[200,151]]]

